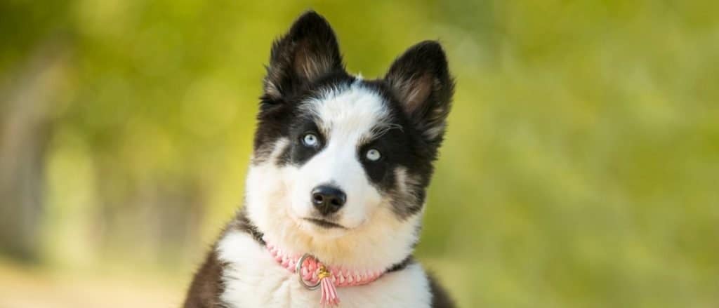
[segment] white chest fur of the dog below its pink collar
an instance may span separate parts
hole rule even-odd
[[[218,256],[226,262],[221,299],[230,307],[319,307],[320,291],[301,286],[246,233],[227,233]],[[429,283],[421,266],[385,274],[365,286],[338,288],[340,307],[429,307]]]

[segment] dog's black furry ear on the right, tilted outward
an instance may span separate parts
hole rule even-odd
[[[439,42],[421,42],[408,49],[392,64],[385,82],[426,141],[439,146],[454,93]]]

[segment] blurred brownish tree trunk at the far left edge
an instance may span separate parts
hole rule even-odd
[[[0,88],[0,253],[21,261],[37,261],[45,151],[65,55],[41,45]]]

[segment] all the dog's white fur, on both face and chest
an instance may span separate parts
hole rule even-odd
[[[357,149],[386,125],[388,111],[377,93],[361,85],[336,89],[303,108],[311,111],[328,144],[302,166],[278,166],[276,158],[290,140],[275,142],[269,159],[250,167],[246,207],[270,243],[289,253],[312,253],[324,263],[348,269],[383,271],[412,252],[421,213],[398,218],[392,196],[371,185]],[[414,185],[398,170],[400,187]],[[404,183],[407,182],[407,183]],[[337,213],[344,229],[321,228],[302,218],[313,216],[311,190],[333,183],[347,194]],[[218,245],[223,274],[222,298],[233,307],[318,307],[319,291],[308,291],[279,266],[264,247],[245,233],[230,232]],[[431,294],[421,266],[413,264],[366,286],[339,288],[342,307],[429,307]]]

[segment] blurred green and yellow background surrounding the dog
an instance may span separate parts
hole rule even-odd
[[[461,307],[719,307],[717,1],[0,1],[0,307],[178,307],[270,43],[457,76],[418,258]]]

